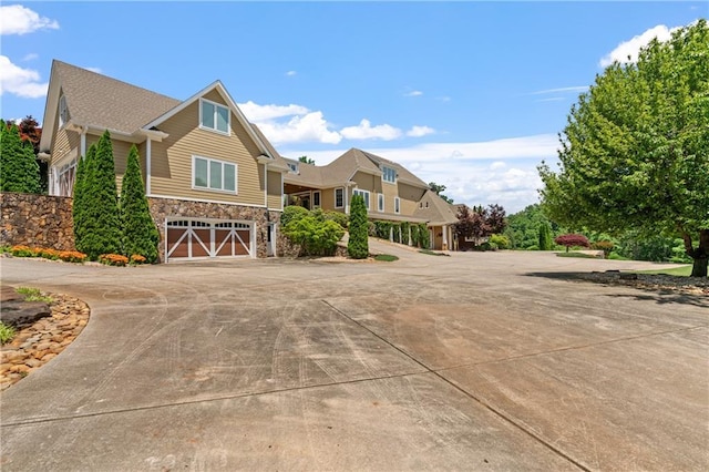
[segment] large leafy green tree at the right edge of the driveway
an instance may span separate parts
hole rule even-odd
[[[543,205],[569,227],[678,235],[707,276],[709,28],[705,20],[614,63],[579,96],[559,171],[540,166]]]

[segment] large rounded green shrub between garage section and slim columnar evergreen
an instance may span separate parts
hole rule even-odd
[[[345,229],[332,220],[319,220],[308,215],[294,218],[284,228],[284,234],[300,246],[301,256],[330,256]]]

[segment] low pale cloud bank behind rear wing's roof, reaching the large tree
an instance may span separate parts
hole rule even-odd
[[[510,137],[477,143],[425,143],[410,147],[366,148],[405,166],[423,182],[448,188],[458,203],[505,207],[516,213],[538,201],[542,182],[536,171],[541,161],[556,162],[558,138],[554,134]],[[280,150],[284,155],[307,155],[319,165],[347,150]]]

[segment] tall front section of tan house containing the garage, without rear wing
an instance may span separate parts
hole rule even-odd
[[[76,161],[104,131],[119,188],[137,146],[163,260],[277,253],[288,167],[222,82],[181,101],[54,61],[43,123],[51,195],[72,195]]]

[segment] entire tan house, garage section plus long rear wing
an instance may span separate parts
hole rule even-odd
[[[72,195],[106,130],[119,189],[137,146],[163,261],[277,255],[284,205],[349,213],[357,194],[370,219],[427,223],[431,248],[455,247],[453,207],[400,164],[357,148],[323,166],[285,158],[219,81],[181,101],[53,61],[40,143],[51,195]]]

